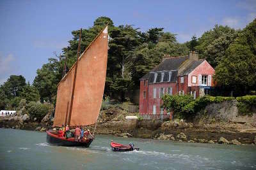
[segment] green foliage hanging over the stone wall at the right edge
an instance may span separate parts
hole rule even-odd
[[[252,116],[252,109],[256,108],[256,96],[236,97],[236,100],[239,114]]]

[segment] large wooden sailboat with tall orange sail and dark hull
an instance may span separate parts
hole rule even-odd
[[[80,55],[81,31],[77,61],[58,83],[53,127],[95,124],[96,128],[97,125],[106,81],[108,25]],[[47,142],[54,145],[89,147],[92,141],[91,138],[65,138],[57,131],[47,131]]]

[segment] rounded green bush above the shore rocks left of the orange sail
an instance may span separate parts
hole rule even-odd
[[[45,117],[45,115],[49,112],[51,108],[51,105],[49,104],[42,104],[42,103],[36,103],[34,101],[31,101],[27,106],[26,110],[28,110],[28,113],[31,118],[37,118],[38,121],[41,121],[42,118]]]

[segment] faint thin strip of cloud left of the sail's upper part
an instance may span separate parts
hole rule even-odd
[[[51,39],[40,39],[33,42],[37,48],[64,48],[68,45],[67,41],[55,41]]]

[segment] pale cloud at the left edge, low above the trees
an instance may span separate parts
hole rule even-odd
[[[15,58],[12,54],[7,55],[4,57],[3,55],[0,55],[0,84],[3,84],[6,80],[9,74],[13,71],[13,61]]]

